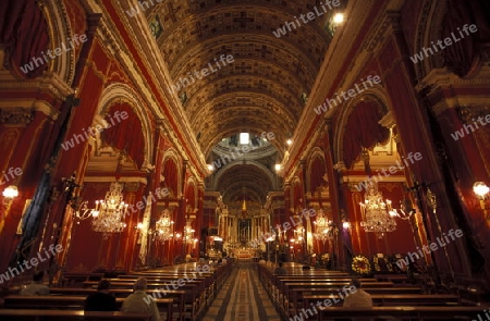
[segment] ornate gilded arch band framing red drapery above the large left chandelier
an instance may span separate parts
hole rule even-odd
[[[140,160],[140,163],[138,163],[138,166],[140,169],[146,168],[147,165],[151,164],[152,159],[152,135],[151,135],[151,124],[147,116],[147,110],[145,106],[142,103],[143,99],[137,95],[136,91],[133,90],[130,86],[125,84],[111,84],[109,85],[102,92],[100,97],[99,106],[97,107],[96,114],[103,118],[103,115],[110,110],[110,108],[115,103],[126,103],[131,107],[134,114],[137,116],[139,123],[140,123],[140,132],[143,135],[143,156],[135,156],[135,158]],[[130,120],[131,118],[128,118]],[[94,120],[94,124],[95,125]],[[133,120],[134,122],[134,120]],[[110,129],[110,128],[109,128]],[[102,132],[103,133],[103,132]],[[130,131],[130,133],[134,134],[134,132]],[[133,157],[133,156],[132,156]]]

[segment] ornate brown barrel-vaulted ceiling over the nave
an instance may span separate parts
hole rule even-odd
[[[205,156],[240,132],[273,132],[283,151],[330,41],[323,25],[333,11],[285,36],[272,32],[315,7],[323,12],[315,0],[168,0],[145,11],[150,25],[161,26],[156,38],[172,82],[191,81],[177,95],[185,91],[183,107]],[[208,63],[216,69],[222,54],[234,61],[192,82],[189,73]]]

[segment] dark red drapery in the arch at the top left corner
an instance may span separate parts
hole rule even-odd
[[[48,67],[41,51],[49,46],[48,24],[34,0],[0,1],[0,44],[7,45],[11,64],[19,75],[35,78]],[[46,54],[46,52],[45,52]],[[38,59],[38,66],[33,62]],[[39,59],[42,63],[39,62]],[[32,71],[20,66],[32,63]]]

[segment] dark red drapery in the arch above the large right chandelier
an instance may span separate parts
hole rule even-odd
[[[347,169],[354,164],[363,148],[371,148],[390,137],[390,131],[378,124],[382,118],[381,106],[373,100],[359,102],[348,115],[343,144]]]

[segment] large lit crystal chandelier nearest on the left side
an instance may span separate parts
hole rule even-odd
[[[124,218],[127,212],[128,205],[123,201],[123,185],[119,182],[111,183],[106,198],[96,201],[96,208],[91,215],[91,229],[101,233],[121,233],[126,223]]]

